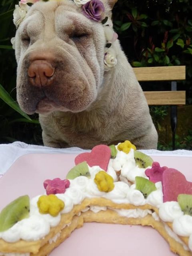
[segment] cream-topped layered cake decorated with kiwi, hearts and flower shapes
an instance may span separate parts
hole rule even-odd
[[[79,154],[43,186],[0,212],[0,256],[48,255],[85,222],[152,226],[172,252],[192,255],[192,182],[129,141]]]

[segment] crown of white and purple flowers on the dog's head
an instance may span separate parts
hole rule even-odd
[[[47,2],[52,0],[20,0],[13,12],[13,22],[16,28],[18,28],[24,20],[30,6],[39,1]],[[104,68],[105,71],[110,70],[117,64],[116,52],[112,48],[112,44],[117,40],[118,35],[113,31],[112,22],[108,19],[108,16],[105,16],[104,14],[105,8],[103,3],[100,0],[74,0],[74,3],[76,6],[82,8],[82,12],[87,18],[102,23],[106,38]],[[11,42],[14,44],[14,38],[12,38]]]

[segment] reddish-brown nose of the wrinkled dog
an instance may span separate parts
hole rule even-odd
[[[46,60],[34,60],[28,68],[28,76],[34,86],[50,85],[54,72],[55,68]]]

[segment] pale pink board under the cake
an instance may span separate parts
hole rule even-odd
[[[44,194],[43,182],[56,177],[65,178],[74,166],[72,154],[27,154],[10,167],[0,179],[0,210],[9,202],[28,194]],[[161,166],[176,168],[192,181],[192,158],[152,156]],[[174,256],[167,242],[148,226],[85,223],[75,230],[51,256]]]

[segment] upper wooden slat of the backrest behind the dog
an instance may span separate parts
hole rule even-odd
[[[133,68],[138,81],[185,80],[185,66]]]

